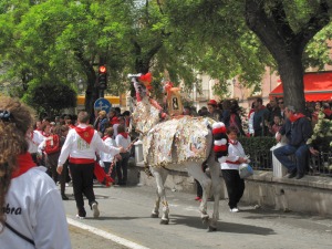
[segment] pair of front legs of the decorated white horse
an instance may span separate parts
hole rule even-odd
[[[162,216],[162,220],[160,224],[167,225],[169,222],[169,218],[168,218],[168,214],[169,214],[169,209],[168,209],[168,204],[166,200],[166,194],[165,194],[165,180],[167,178],[167,172],[164,168],[160,167],[156,167],[156,168],[151,168],[152,174],[154,175],[154,177],[156,178],[156,184],[157,184],[157,198],[155,201],[155,207],[152,211],[152,217],[153,218],[157,218],[159,215],[159,204],[162,200],[163,204],[163,216]]]

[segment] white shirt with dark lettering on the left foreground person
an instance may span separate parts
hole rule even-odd
[[[34,167],[13,178],[3,207],[7,222],[32,239],[35,247],[4,227],[0,234],[1,249],[72,248],[59,189],[45,169]]]

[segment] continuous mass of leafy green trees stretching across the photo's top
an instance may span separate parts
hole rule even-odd
[[[206,73],[222,95],[235,76],[259,85],[268,65],[281,74],[286,101],[301,106],[303,94],[293,93],[303,90],[303,68],[331,63],[329,11],[328,0],[0,0],[0,61],[23,91],[83,80],[86,110],[100,96],[98,64],[114,95],[128,90],[127,73],[147,71],[188,90]]]

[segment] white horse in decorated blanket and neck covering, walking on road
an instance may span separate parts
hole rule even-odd
[[[215,162],[214,137],[211,131],[206,127],[206,120],[179,116],[159,122],[162,110],[154,100],[149,98],[145,85],[138,82],[139,75],[129,75],[129,77],[138,100],[133,112],[133,124],[142,134],[144,160],[149,166],[157,184],[157,198],[152,217],[158,217],[162,201],[160,224],[169,222],[169,207],[164,187],[168,170],[187,170],[203,187],[199,206],[201,220],[204,224],[208,224],[209,231],[217,230],[221,191],[220,165]],[[193,137],[196,141],[193,141]],[[211,178],[203,172],[204,163],[208,165]],[[210,191],[212,191],[215,200],[211,219],[207,214],[207,199]]]

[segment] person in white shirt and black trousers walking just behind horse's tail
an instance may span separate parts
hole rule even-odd
[[[240,178],[239,166],[248,163],[245,149],[238,141],[238,129],[235,126],[227,128],[228,156],[224,158],[221,174],[228,193],[228,206],[231,212],[238,212],[238,204],[245,191],[245,180]]]

